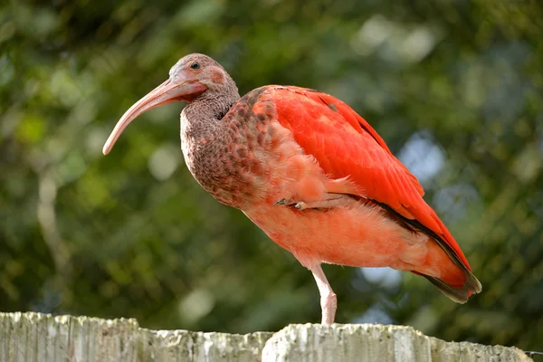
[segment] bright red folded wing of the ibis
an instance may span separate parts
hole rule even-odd
[[[361,196],[416,220],[443,239],[470,268],[451,233],[424,202],[424,190],[416,177],[357,112],[315,90],[273,87],[266,93],[275,102],[281,125],[291,130],[294,139],[327,174],[333,178],[349,176],[363,190]]]

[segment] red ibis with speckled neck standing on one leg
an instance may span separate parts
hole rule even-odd
[[[312,272],[322,324],[337,310],[323,263],[413,272],[458,303],[481,292],[423,186],[343,101],[282,85],[241,97],[219,62],[193,53],[124,113],[103,154],[133,119],[173,101],[186,102],[180,138],[192,176]]]

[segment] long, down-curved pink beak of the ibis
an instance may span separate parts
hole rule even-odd
[[[119,139],[122,131],[129,126],[132,120],[138,118],[140,114],[175,100],[190,101],[197,94],[207,89],[204,84],[200,83],[194,77],[189,79],[181,73],[177,78],[181,79],[165,81],[154,90],[151,90],[148,95],[138,100],[122,115],[115,129],[111,132],[110,138],[106,141],[104,148],[102,148],[104,155],[110,153],[111,148],[113,148],[113,145]]]

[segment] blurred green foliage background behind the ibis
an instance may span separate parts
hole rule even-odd
[[[543,349],[543,3],[53,0],[0,10],[0,310],[227,332],[318,322],[305,270],[187,172],[168,104],[101,147],[183,55],[243,93],[345,100],[426,189],[483,291],[325,266],[338,322]]]

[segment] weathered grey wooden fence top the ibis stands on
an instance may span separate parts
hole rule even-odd
[[[0,313],[0,361],[529,361],[518,348],[382,325],[291,325],[247,335],[150,330],[136,319]]]

